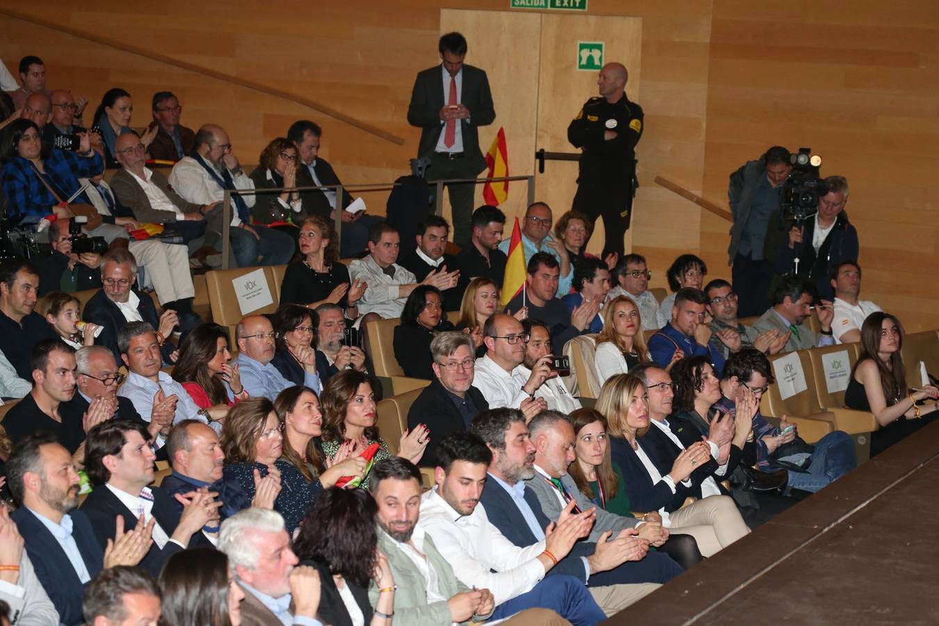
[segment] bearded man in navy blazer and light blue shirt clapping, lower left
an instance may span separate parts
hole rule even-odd
[[[23,536],[36,575],[59,614],[59,623],[83,624],[85,586],[101,570],[136,565],[146,555],[153,525],[124,532],[115,522],[115,542],[102,550],[91,522],[78,506],[79,478],[69,450],[54,435],[23,439],[7,464],[9,488],[22,506],[10,517]]]

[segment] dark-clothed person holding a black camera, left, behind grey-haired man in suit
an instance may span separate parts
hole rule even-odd
[[[49,226],[51,256],[39,259],[39,298],[51,291],[84,291],[101,288],[101,255],[95,252],[72,252],[69,220],[56,220]]]

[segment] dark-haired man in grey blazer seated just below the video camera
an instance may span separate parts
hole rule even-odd
[[[779,331],[779,336],[790,332],[789,341],[780,353],[834,344],[835,337],[831,330],[831,321],[835,317],[834,306],[829,300],[822,300],[821,304],[815,307],[821,326],[816,340],[815,333],[805,323],[812,314],[811,303],[812,288],[808,283],[796,276],[786,276],[779,281],[773,293],[773,306],[760,316],[753,328],[756,328],[758,333],[775,328]]]

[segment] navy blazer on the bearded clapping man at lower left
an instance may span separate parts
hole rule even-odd
[[[78,545],[88,574],[94,580],[104,567],[104,550],[95,538],[95,532],[85,513],[71,511],[69,516],[72,522],[71,536]],[[33,563],[42,588],[49,594],[49,599],[53,601],[55,610],[59,613],[59,621],[67,626],[84,624],[82,598],[85,595],[85,585],[79,580],[62,546],[55,541],[53,534],[43,526],[38,517],[25,507],[10,513],[10,517],[23,536],[26,554]],[[111,522],[111,530],[114,531],[114,521]]]

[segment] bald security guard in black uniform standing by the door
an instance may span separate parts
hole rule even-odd
[[[567,127],[567,140],[583,148],[573,208],[594,223],[603,216],[607,237],[603,258],[610,252],[623,256],[623,238],[632,217],[642,109],[626,98],[628,77],[622,63],[600,69],[596,81],[600,95],[587,100]]]

